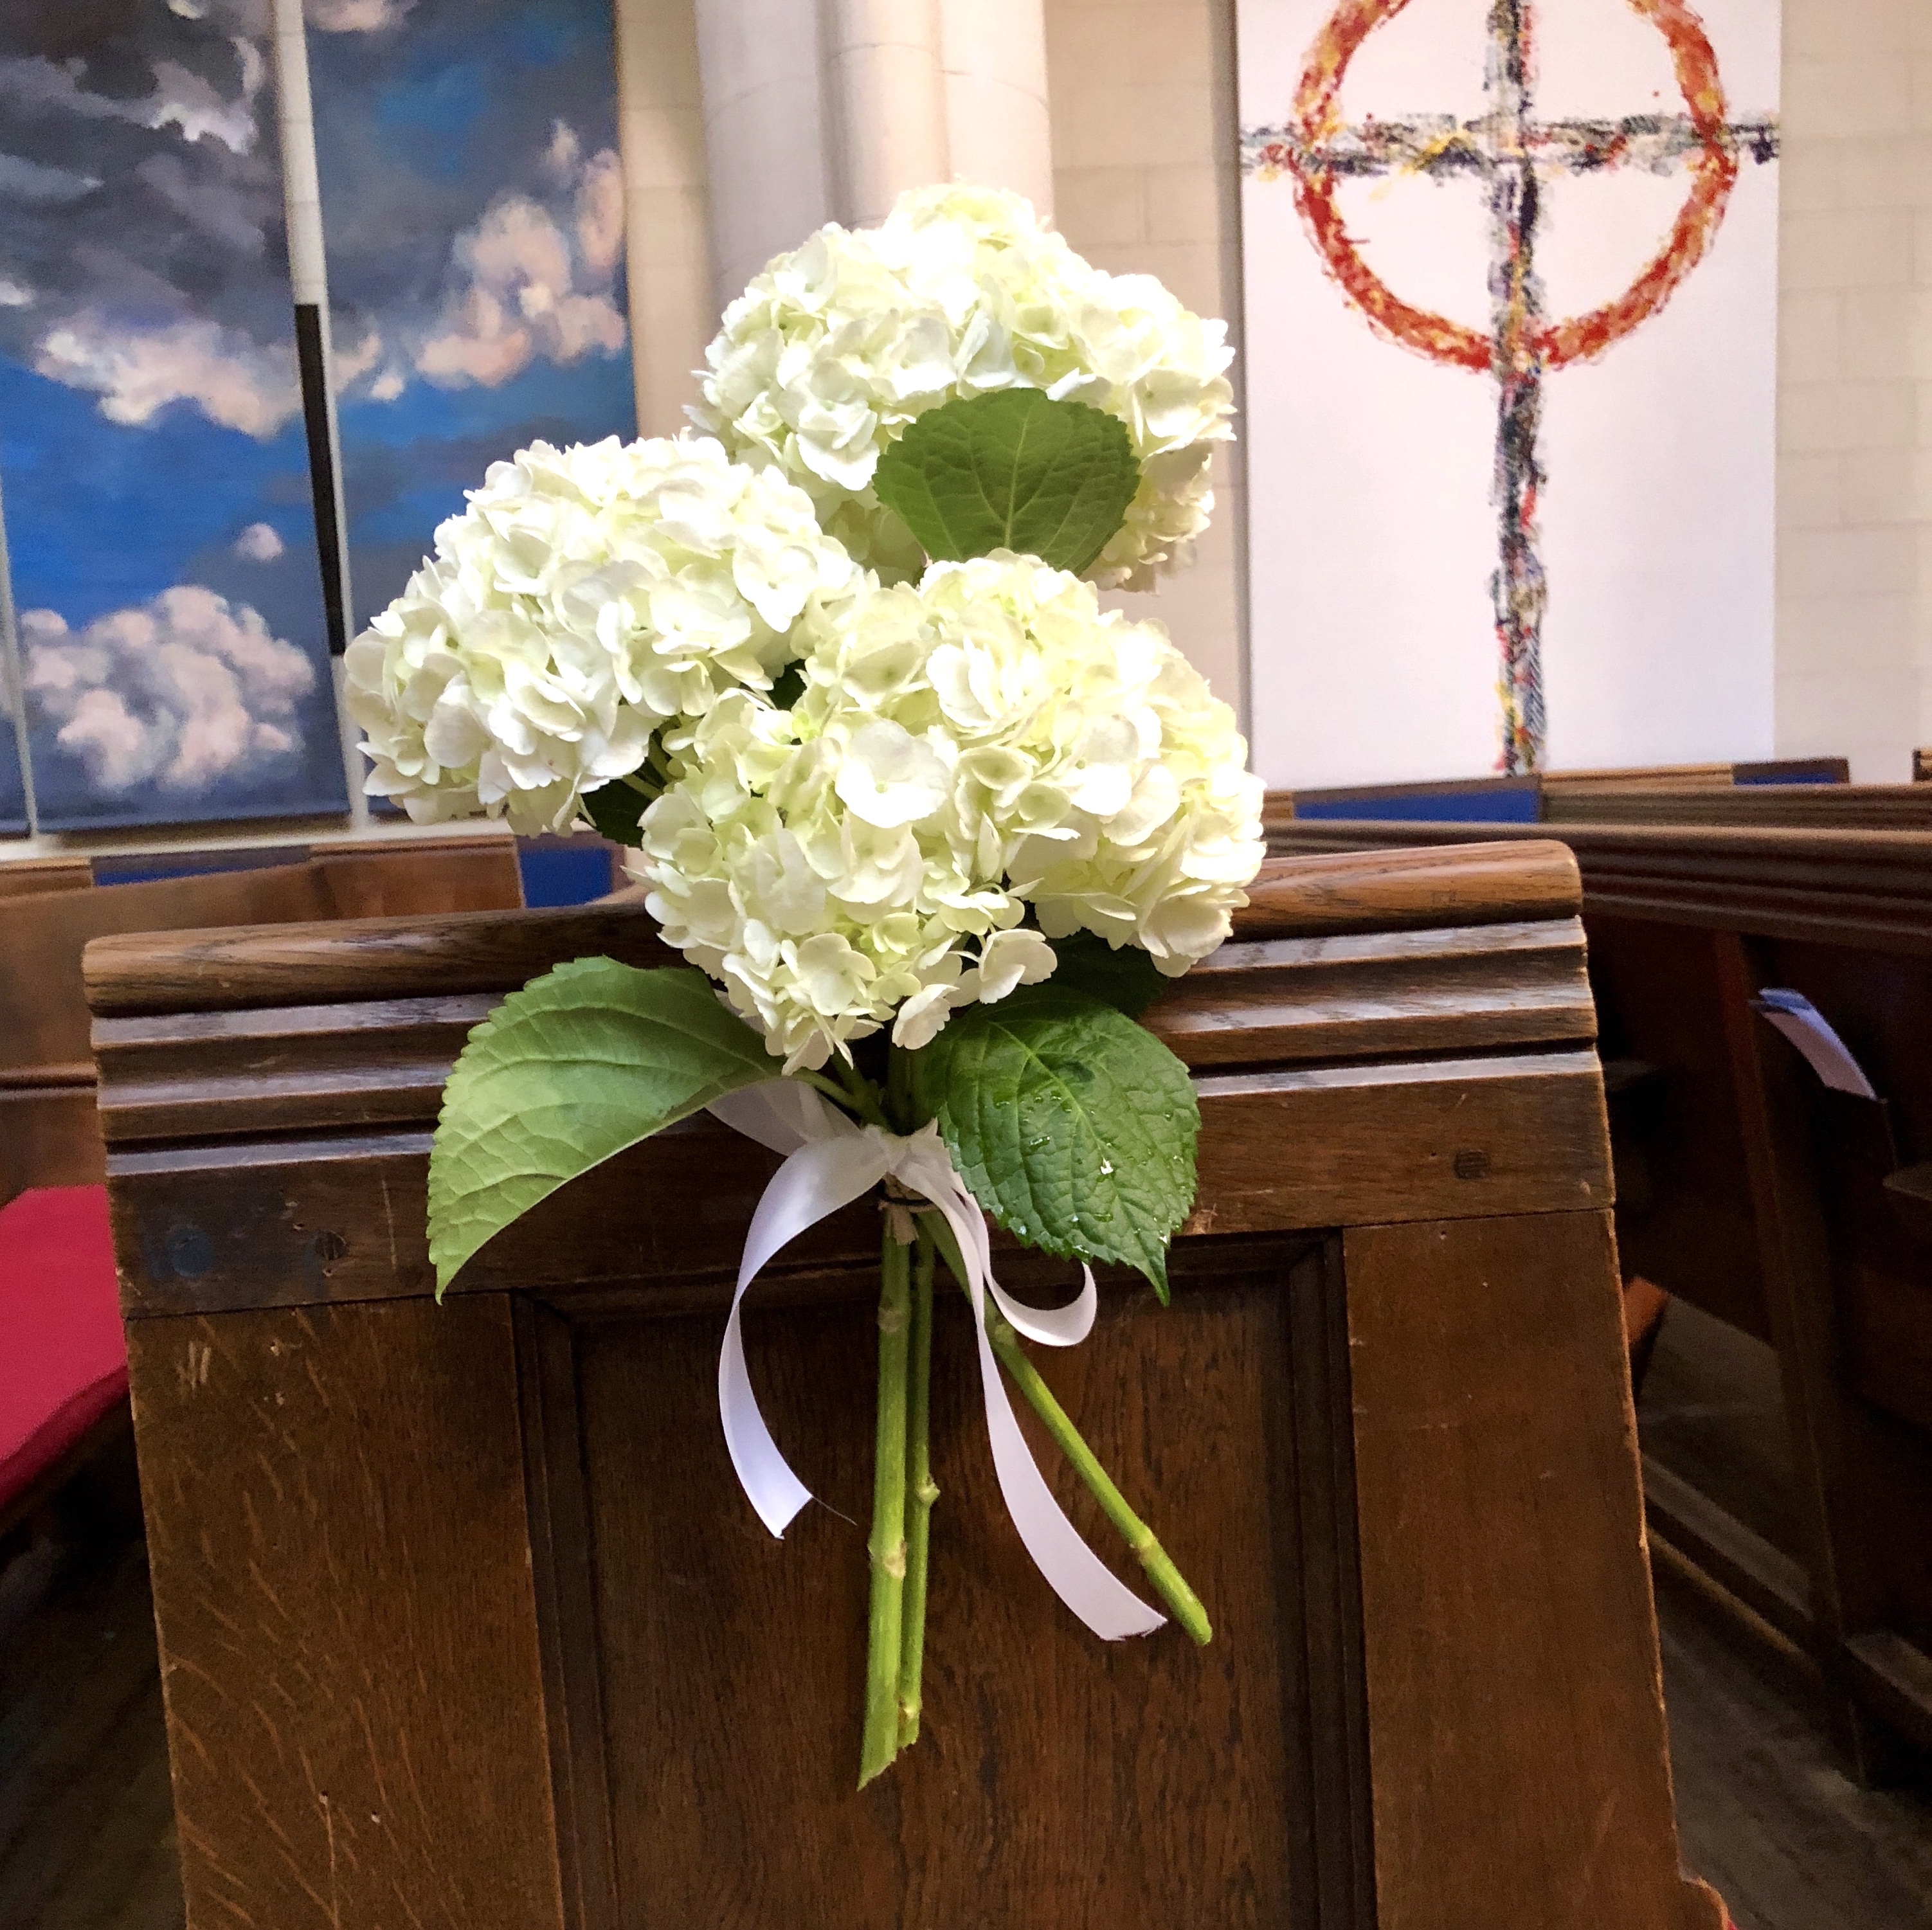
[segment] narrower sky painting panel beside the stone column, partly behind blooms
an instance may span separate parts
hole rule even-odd
[[[491,462],[636,435],[611,0],[311,0],[309,83],[363,626]]]

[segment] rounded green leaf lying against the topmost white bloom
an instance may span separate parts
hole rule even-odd
[[[873,487],[935,560],[1010,549],[1078,572],[1126,520],[1140,464],[1119,417],[999,388],[920,415]]]

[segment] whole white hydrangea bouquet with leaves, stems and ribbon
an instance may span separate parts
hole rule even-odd
[[[740,1302],[790,1238],[883,1207],[860,1783],[918,1737],[937,1488],[933,1281],[974,1308],[1001,1491],[1097,1634],[1155,1629],[1059,1509],[1005,1376],[1167,1609],[1194,1592],[1022,1337],[1074,1345],[1090,1262],[1167,1298],[1200,1115],[1136,1020],[1211,952],[1262,860],[1225,703],[1094,585],[1177,566],[1231,435],[1231,352],[1148,276],[1088,267],[1003,193],[906,195],[757,276],[709,350],[709,435],[497,464],[350,649],[369,790],[412,817],[593,825],[690,968],[580,958],[477,1026],[429,1173],[439,1292],[566,1180],[701,1109],[784,1155],[719,1360],[765,1524],[810,1499]],[[987,1219],[1082,1262],[1009,1298]]]

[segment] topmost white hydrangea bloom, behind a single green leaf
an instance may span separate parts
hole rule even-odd
[[[1126,423],[1140,491],[1088,576],[1150,589],[1208,527],[1208,460],[1233,437],[1227,325],[1151,274],[1105,274],[991,187],[922,187],[877,228],[821,228],[724,311],[699,427],[811,495],[883,576],[922,562],[879,504],[879,452],[923,410],[1043,388]]]

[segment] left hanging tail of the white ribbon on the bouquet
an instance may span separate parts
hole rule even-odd
[[[757,1518],[777,1536],[784,1534],[811,1499],[811,1490],[779,1453],[752,1391],[740,1323],[744,1294],[781,1246],[877,1186],[889,1161],[891,1153],[869,1134],[840,1134],[800,1146],[771,1177],[746,1233],[738,1287],[730,1296],[724,1345],[719,1348],[719,1422],[738,1486]]]

